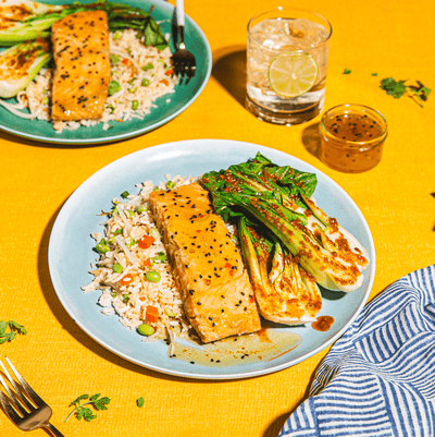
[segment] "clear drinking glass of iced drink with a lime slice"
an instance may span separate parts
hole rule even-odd
[[[307,122],[324,105],[332,26],[313,12],[277,8],[248,24],[247,108],[284,125]]]

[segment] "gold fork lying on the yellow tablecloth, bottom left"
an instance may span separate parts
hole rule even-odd
[[[18,386],[0,361],[0,366],[4,376],[15,390],[11,390],[3,377],[0,375],[0,383],[9,396],[8,398],[0,390],[0,403],[11,421],[23,430],[47,428],[53,436],[64,437],[64,435],[49,422],[52,414],[51,408],[42,401],[35,390],[18,374],[8,356],[4,356],[4,360],[8,362],[16,379],[20,381]]]

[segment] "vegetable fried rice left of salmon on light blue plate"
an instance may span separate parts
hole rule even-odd
[[[154,332],[145,336],[144,341],[164,339],[172,343],[177,337],[191,338],[191,327],[149,209],[149,194],[196,180],[178,175],[158,186],[151,181],[136,185],[138,194],[123,193],[123,198],[112,199],[113,210],[102,213],[108,216],[103,232],[91,234],[100,256],[91,266],[94,280],[82,289],[100,290],[101,313],[117,316],[125,327],[136,330],[144,324],[151,326]],[[152,280],[147,279],[150,271]],[[160,277],[157,282],[156,272]]]

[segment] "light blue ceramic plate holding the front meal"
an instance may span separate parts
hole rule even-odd
[[[319,184],[314,198],[330,216],[353,233],[366,247],[370,265],[364,282],[357,291],[341,295],[330,292],[323,300],[320,315],[335,318],[327,332],[311,327],[279,327],[302,336],[301,344],[270,362],[247,363],[231,367],[208,367],[169,359],[167,345],[157,341],[145,343],[135,331],[124,328],[116,316],[104,316],[97,305],[99,291],[83,293],[92,276],[89,266],[96,260],[91,232],[101,231],[98,214],[111,209],[111,199],[124,191],[137,192],[136,183],[164,181],[165,174],[200,175],[253,158],[260,151],[274,162],[315,172]],[[276,372],[318,353],[349,327],[366,302],[375,271],[372,235],[364,217],[353,201],[327,175],[314,167],[282,151],[256,144],[223,139],[195,139],[163,144],[127,155],[102,168],[85,181],[67,199],[53,226],[49,244],[50,275],[63,306],[75,323],[92,339],[113,353],[158,372],[190,378],[247,378]],[[343,293],[344,294],[344,293]]]

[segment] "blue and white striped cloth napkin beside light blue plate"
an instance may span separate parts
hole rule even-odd
[[[435,437],[435,266],[370,302],[279,437]]]

